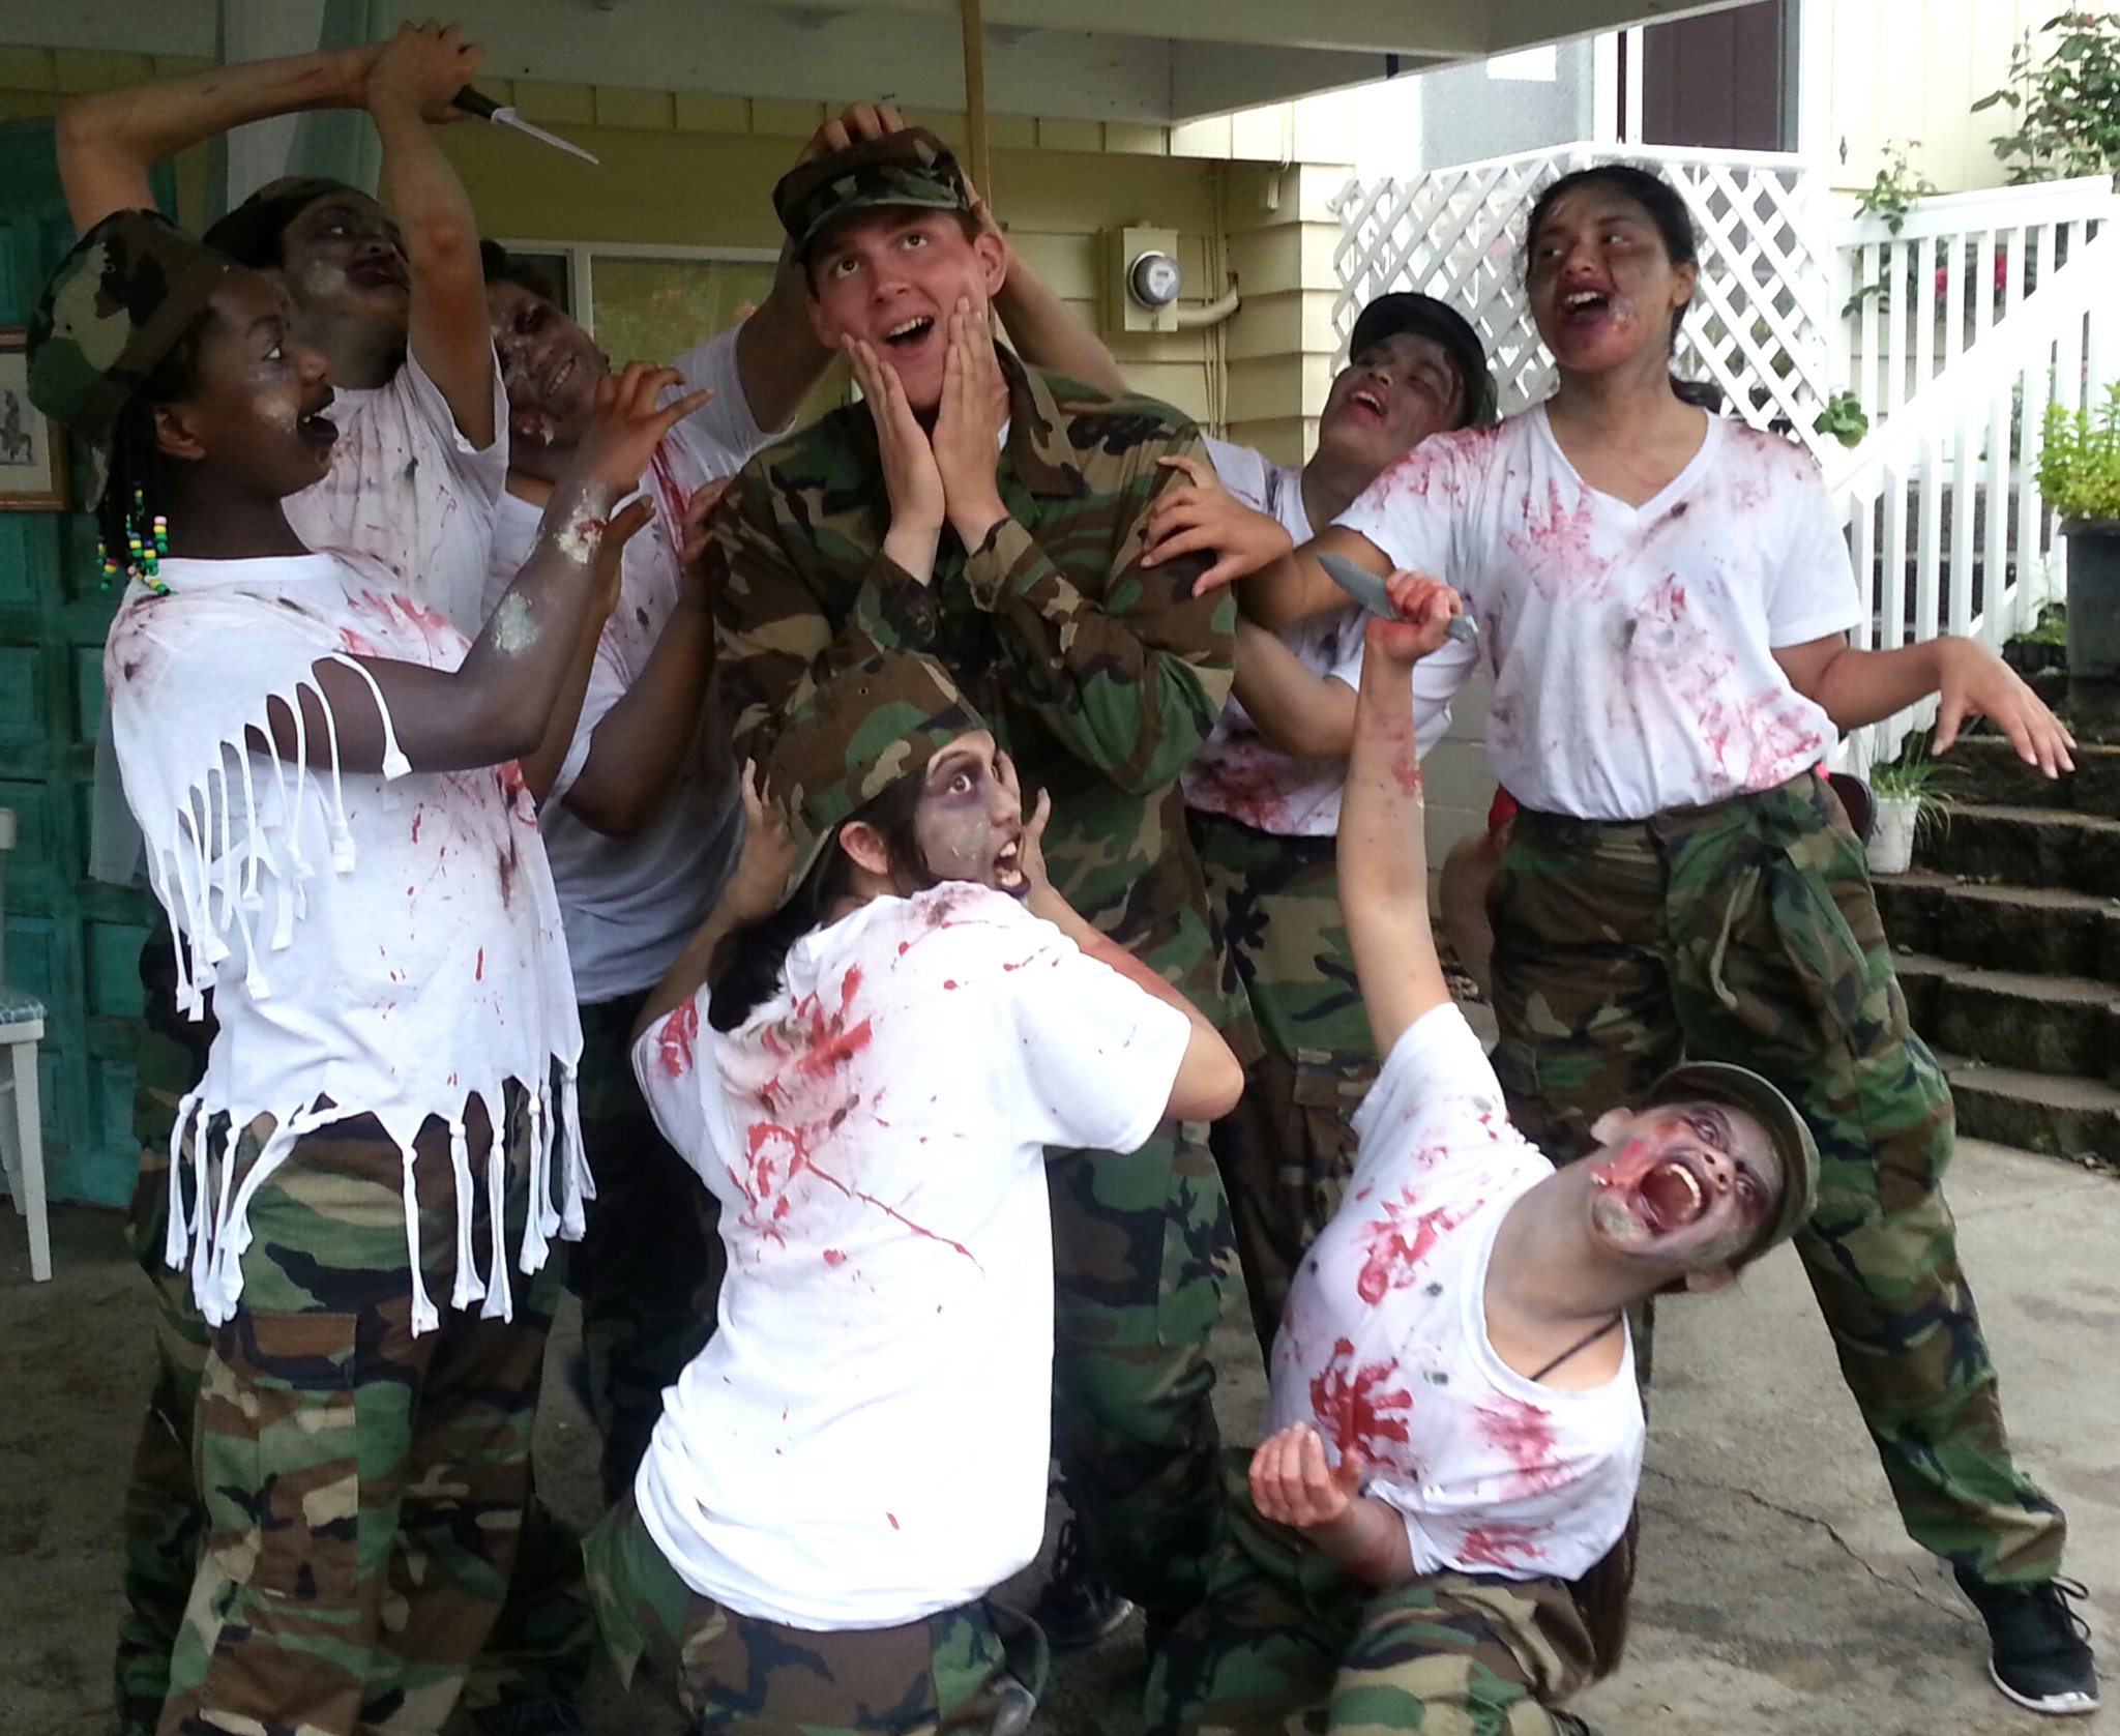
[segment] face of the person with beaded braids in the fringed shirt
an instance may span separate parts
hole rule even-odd
[[[261,271],[231,271],[208,305],[199,388],[159,411],[163,449],[276,500],[322,481],[339,437],[324,415],[331,384],[324,358],[290,335],[286,290]]]

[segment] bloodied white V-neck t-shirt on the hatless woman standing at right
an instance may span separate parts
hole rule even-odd
[[[1488,763],[1524,808],[1641,820],[1783,784],[1838,740],[1770,655],[1861,619],[1825,481],[1779,435],[1707,424],[1641,507],[1575,475],[1541,405],[1433,437],[1338,519],[1465,594]]]

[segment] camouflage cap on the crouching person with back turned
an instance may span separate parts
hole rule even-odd
[[[765,757],[765,795],[787,816],[795,861],[782,899],[801,886],[840,825],[958,736],[986,729],[933,657],[878,651],[791,702]]]

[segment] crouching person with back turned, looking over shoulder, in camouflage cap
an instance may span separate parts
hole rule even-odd
[[[984,1596],[1045,1520],[1045,1149],[1134,1151],[1242,1070],[1054,892],[1047,801],[926,657],[797,695],[765,789],[634,1047],[729,1270],[591,1596],[702,1730],[1009,1728],[1039,1670]]]

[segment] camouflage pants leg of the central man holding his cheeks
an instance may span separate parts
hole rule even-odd
[[[1219,1528],[1208,1338],[1230,1208],[1198,1121],[1132,1155],[1049,1153],[1054,1454],[1092,1573],[1155,1634],[1200,1600]]]

